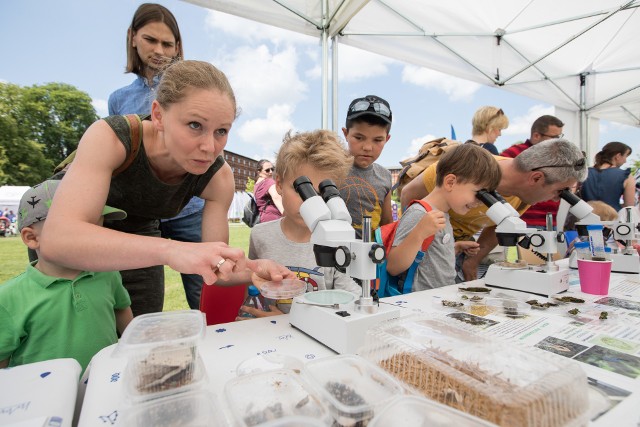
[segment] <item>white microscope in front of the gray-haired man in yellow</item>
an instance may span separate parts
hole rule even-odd
[[[553,230],[553,218],[547,216],[547,229],[527,228],[518,212],[496,192],[478,192],[477,196],[489,207],[487,216],[497,224],[498,243],[505,247],[505,261],[491,264],[484,277],[487,286],[549,296],[569,288],[569,270],[561,269],[553,261],[558,243],[564,233]],[[519,241],[519,239],[522,240]],[[545,259],[544,265],[528,265],[524,261],[507,262],[506,248],[520,245],[531,248]],[[546,255],[544,255],[546,254]]]

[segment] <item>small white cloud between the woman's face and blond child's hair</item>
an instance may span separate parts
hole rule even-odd
[[[238,129],[238,136],[256,150],[262,150],[258,153],[260,157],[273,157],[282,143],[282,136],[294,127],[291,122],[293,111],[291,105],[272,105],[267,109],[266,117],[244,122]]]

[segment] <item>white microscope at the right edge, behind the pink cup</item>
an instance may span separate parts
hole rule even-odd
[[[567,194],[564,194],[565,192]],[[622,221],[601,221],[600,217],[592,212],[591,205],[575,194],[565,190],[561,197],[563,203],[566,201],[569,204],[569,212],[579,219],[576,222],[576,230],[579,236],[588,236],[587,225],[602,224],[613,230],[615,240],[624,242],[624,248],[614,249],[611,253],[611,271],[616,273],[640,273],[640,257],[633,247],[633,241],[639,238],[640,225],[634,220],[633,207],[629,206],[621,210],[621,216],[624,218]],[[563,209],[562,205],[560,209]],[[558,228],[561,229],[560,225]],[[575,252],[569,258],[569,267],[578,268]]]

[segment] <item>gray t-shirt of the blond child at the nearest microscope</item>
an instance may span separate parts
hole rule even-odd
[[[282,219],[256,224],[249,239],[250,259],[271,259],[296,273],[307,283],[307,292],[324,289],[342,289],[359,297],[360,286],[335,268],[319,267],[313,254],[313,244],[292,242],[280,227]],[[278,308],[289,312],[291,302],[278,301]]]

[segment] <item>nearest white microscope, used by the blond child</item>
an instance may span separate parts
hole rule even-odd
[[[376,264],[385,259],[384,247],[370,241],[371,217],[363,218],[362,240],[355,238],[349,211],[331,180],[320,183],[322,197],[306,176],[296,179],[293,187],[303,200],[300,215],[311,230],[316,262],[358,279],[362,294],[358,300],[339,290],[295,297],[289,323],[338,353],[355,353],[364,344],[369,327],[400,314],[397,307],[380,306],[371,296]]]

